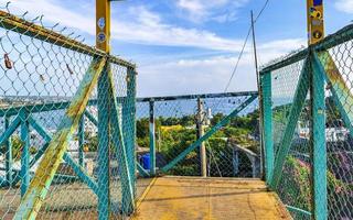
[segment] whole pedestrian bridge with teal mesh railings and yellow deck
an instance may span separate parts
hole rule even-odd
[[[136,64],[6,9],[1,219],[353,219],[353,25],[258,91],[136,98]]]

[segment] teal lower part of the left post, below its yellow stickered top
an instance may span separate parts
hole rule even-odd
[[[98,218],[109,219],[109,82],[107,65],[98,79]]]

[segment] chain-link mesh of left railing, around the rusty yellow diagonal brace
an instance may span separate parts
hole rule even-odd
[[[14,216],[21,202],[21,194],[26,191],[43,155],[46,154],[51,139],[61,129],[60,124],[65,119],[67,107],[73,101],[85,73],[94,61],[105,56],[79,42],[79,36],[73,37],[73,33],[66,33],[65,29],[60,30],[57,25],[45,26],[41,16],[31,21],[25,20],[26,14],[17,16],[19,22],[9,28],[9,20],[14,18],[9,12],[7,6],[0,18],[1,139],[12,129],[10,135],[2,140],[0,148],[1,219]],[[24,30],[17,25],[24,26]],[[43,38],[42,32],[32,32],[35,25],[38,30],[49,34],[45,36],[44,33]],[[50,42],[50,38],[57,36],[56,42]],[[66,42],[60,44],[61,37]],[[109,57],[108,65],[110,67],[107,69],[110,69],[115,82],[113,94],[116,95],[119,119],[111,120],[110,128],[121,132],[120,142],[127,152],[121,155],[121,152],[117,151],[117,144],[108,143],[113,140],[107,136],[108,125],[101,127],[99,138],[98,127],[109,114],[99,112],[98,109],[108,109],[113,105],[111,100],[97,101],[98,97],[111,96],[109,89],[106,89],[110,86],[108,81],[99,79],[98,87],[103,89],[99,94],[96,86],[90,94],[85,113],[69,139],[64,160],[60,161],[38,211],[38,219],[95,219],[98,218],[99,204],[110,207],[110,218],[120,219],[129,215],[131,209],[126,189],[132,187],[132,197],[137,198],[146,187],[147,180],[142,180],[137,187],[135,175],[133,65],[120,62],[117,57]],[[103,75],[105,73],[106,70]],[[113,113],[110,112],[110,116]],[[108,144],[108,151],[99,154],[100,144]],[[120,158],[125,156],[130,183],[121,178]],[[107,163],[106,169],[101,168],[101,163]],[[51,167],[44,169],[50,172]],[[105,182],[108,188],[99,187],[99,182]],[[109,197],[110,200],[107,201],[106,198]],[[108,217],[109,212],[100,215]]]

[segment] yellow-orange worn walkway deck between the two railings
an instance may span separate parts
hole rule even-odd
[[[291,219],[275,193],[256,179],[159,177],[132,219]]]

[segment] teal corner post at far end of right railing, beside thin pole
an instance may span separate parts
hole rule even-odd
[[[263,103],[264,103],[264,147],[265,147],[265,172],[266,182],[270,184],[274,172],[275,150],[272,141],[272,98],[271,98],[271,74],[265,73],[261,77]]]

